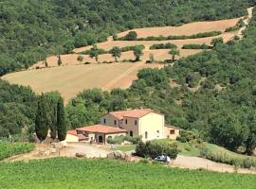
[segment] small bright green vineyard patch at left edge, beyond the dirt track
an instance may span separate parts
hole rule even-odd
[[[34,147],[34,144],[27,143],[0,143],[0,161],[10,156],[32,151]]]

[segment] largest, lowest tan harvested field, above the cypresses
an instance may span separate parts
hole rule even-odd
[[[36,93],[59,91],[65,103],[84,89],[127,88],[137,78],[137,70],[160,68],[163,64],[101,63],[69,65],[46,69],[27,70],[6,75],[10,83],[30,86]]]

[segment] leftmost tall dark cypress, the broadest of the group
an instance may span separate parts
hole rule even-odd
[[[37,138],[42,142],[46,139],[48,132],[48,119],[46,113],[46,98],[45,95],[42,94],[38,101],[38,108],[35,119],[35,132]]]

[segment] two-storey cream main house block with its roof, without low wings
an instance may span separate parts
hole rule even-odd
[[[165,138],[164,115],[151,109],[109,112],[101,117],[101,124],[125,129],[130,136],[141,136],[142,141]]]

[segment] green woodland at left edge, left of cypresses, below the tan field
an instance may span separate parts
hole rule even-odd
[[[30,135],[34,128],[37,96],[28,87],[0,79],[0,137]],[[25,141],[28,137],[25,137]]]

